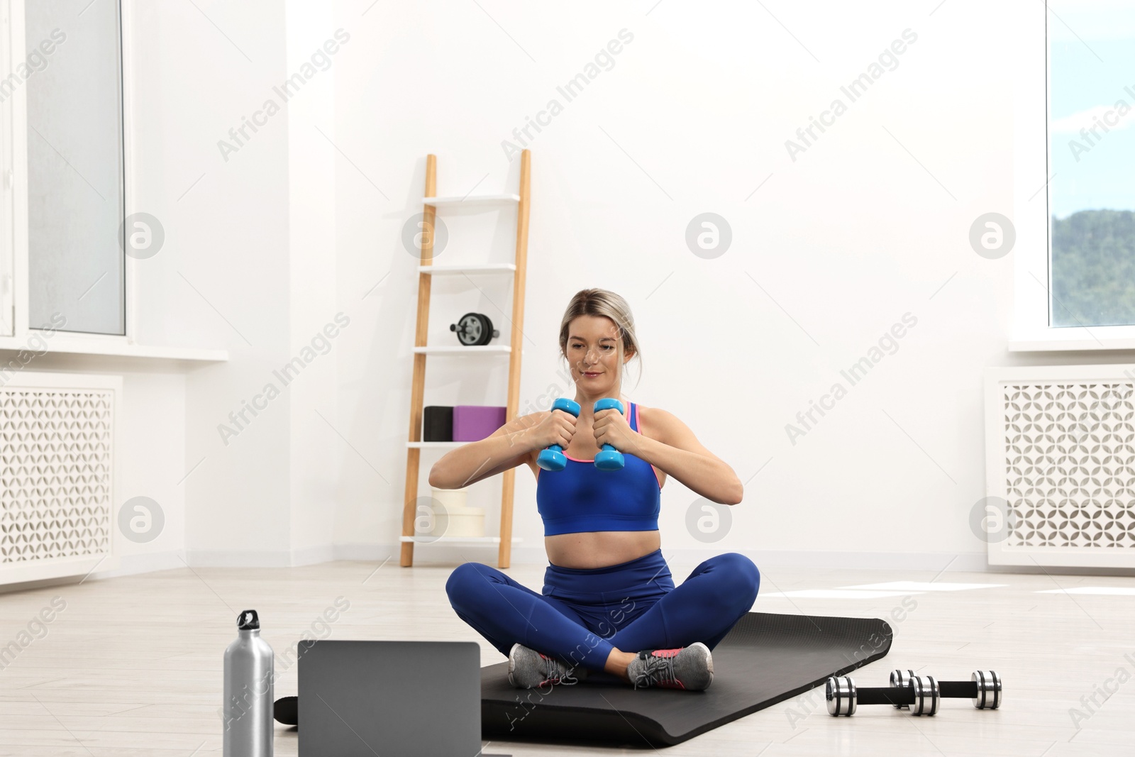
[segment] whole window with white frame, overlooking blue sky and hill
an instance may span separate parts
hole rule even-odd
[[[1135,0],[1012,22],[1009,350],[1135,348]]]

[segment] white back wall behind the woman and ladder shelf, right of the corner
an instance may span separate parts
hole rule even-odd
[[[352,443],[386,480],[345,457],[337,542],[393,545],[401,524],[417,276],[400,229],[421,210],[424,155],[438,155],[439,194],[515,191],[519,161],[501,142],[556,98],[563,111],[529,143],[521,406],[565,386],[556,328],[571,295],[614,289],[644,345],[630,396],[676,414],[748,482],[712,550],[984,565],[968,525],[984,496],[983,369],[1111,359],[1008,354],[1014,258],[980,258],[967,242],[977,216],[1012,212],[1014,19],[1043,8],[453,2],[379,3],[360,16],[369,5],[337,5],[353,36],[336,64],[336,134],[389,199],[340,157],[340,300],[389,276],[338,353],[338,396]],[[565,102],[557,85],[623,28],[633,41],[613,68]],[[842,95],[908,28],[917,41],[898,67],[861,99]],[[793,161],[785,140],[834,98],[847,112]],[[732,227],[715,260],[684,244],[705,211]],[[503,216],[451,220],[445,262],[511,259]],[[432,343],[451,340],[445,329],[465,310],[507,326],[507,289],[482,278],[484,295],[435,285]],[[917,325],[898,351],[792,444],[785,424],[905,313]],[[504,360],[431,358],[426,404],[504,404],[505,380]],[[422,494],[436,456],[423,454]],[[516,481],[516,555],[539,560],[535,482],[523,470]],[[495,513],[499,486],[480,487],[478,504]],[[663,491],[667,554],[706,549],[684,527],[695,498],[674,479]],[[495,562],[491,549],[415,554]]]

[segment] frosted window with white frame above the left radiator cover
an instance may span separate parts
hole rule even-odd
[[[0,8],[0,334],[49,326],[125,336],[119,3]]]

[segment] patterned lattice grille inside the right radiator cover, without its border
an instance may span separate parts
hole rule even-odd
[[[1002,386],[1015,547],[1135,547],[1135,385]]]

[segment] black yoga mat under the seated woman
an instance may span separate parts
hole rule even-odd
[[[594,679],[514,689],[507,662],[489,665],[481,668],[481,738],[673,746],[885,656],[892,633],[877,617],[748,613],[713,650],[705,691]]]

